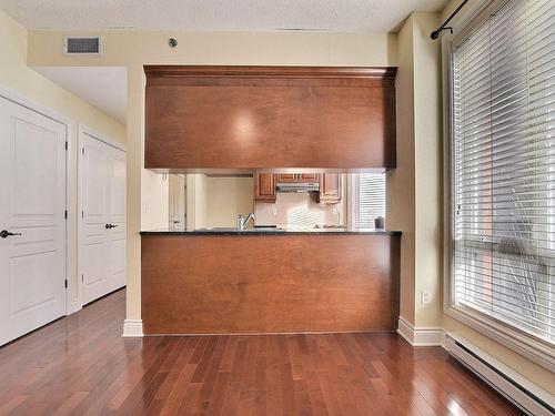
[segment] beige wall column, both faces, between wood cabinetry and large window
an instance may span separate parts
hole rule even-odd
[[[397,169],[387,173],[389,223],[403,232],[401,316],[418,327],[442,324],[441,54],[430,39],[437,22],[413,13],[397,35]]]

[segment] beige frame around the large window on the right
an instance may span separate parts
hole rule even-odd
[[[477,331],[491,339],[529,358],[534,363],[555,372],[555,346],[547,341],[535,337],[524,331],[511,326],[472,307],[454,303],[454,98],[453,98],[453,49],[490,14],[501,9],[508,0],[483,0],[471,7],[471,10],[454,26],[452,34],[442,39],[442,78],[443,78],[443,120],[444,120],[444,155],[443,192],[444,192],[444,258],[443,258],[443,310],[445,315]]]

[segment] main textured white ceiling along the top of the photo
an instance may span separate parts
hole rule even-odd
[[[395,31],[447,0],[0,0],[28,29]]]

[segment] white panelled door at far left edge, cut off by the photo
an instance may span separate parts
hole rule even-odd
[[[2,98],[0,192],[2,345],[65,314],[65,126]]]

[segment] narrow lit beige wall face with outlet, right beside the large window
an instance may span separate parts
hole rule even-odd
[[[441,49],[430,38],[438,14],[413,14],[415,311],[418,327],[442,324],[442,113]],[[420,294],[430,291],[431,303]]]

